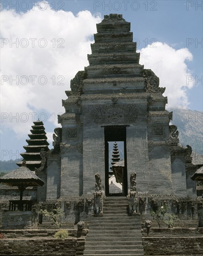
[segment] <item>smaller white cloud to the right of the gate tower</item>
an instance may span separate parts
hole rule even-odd
[[[155,46],[155,47],[154,47]],[[164,96],[168,97],[168,107],[187,108],[189,105],[187,90],[194,86],[191,71],[185,61],[192,61],[188,48],[175,50],[162,42],[148,45],[140,50],[140,64],[159,77],[160,87],[166,87]]]

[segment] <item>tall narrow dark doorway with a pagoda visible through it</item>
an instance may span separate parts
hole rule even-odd
[[[127,195],[126,126],[105,126],[105,194]]]

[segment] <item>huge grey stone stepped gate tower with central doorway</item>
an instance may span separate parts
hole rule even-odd
[[[90,195],[96,173],[108,196],[109,141],[124,143],[124,195],[136,172],[140,193],[194,196],[190,176],[197,168],[189,161],[186,170],[185,155],[189,159],[191,152],[179,146],[177,127],[169,125],[165,88],[139,64],[130,23],[110,14],[96,27],[89,66],[71,80],[62,101],[62,128],[55,129],[48,155],[46,199]]]

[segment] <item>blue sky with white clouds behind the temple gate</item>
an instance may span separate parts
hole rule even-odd
[[[201,5],[203,1],[185,0],[48,0],[35,4],[1,0],[1,160],[19,157],[38,116],[51,143],[53,130],[59,126],[57,114],[64,112],[64,91],[77,71],[89,65],[87,54],[94,42],[95,24],[109,13],[123,14],[131,22],[140,64],[159,76],[160,86],[166,87],[168,107],[202,111]],[[42,38],[46,47],[38,46],[44,43]],[[10,44],[17,39],[18,47]],[[24,47],[26,42],[28,47]],[[12,80],[16,76],[19,84]],[[43,83],[42,77],[40,83],[32,84],[31,76],[48,81]]]

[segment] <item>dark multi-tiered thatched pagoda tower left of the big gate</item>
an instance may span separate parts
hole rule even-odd
[[[41,167],[42,157],[40,151],[49,151],[49,143],[47,142],[47,136],[42,121],[34,121],[32,125],[31,134],[28,134],[30,139],[26,140],[28,143],[27,146],[24,146],[26,152],[21,153],[20,155],[26,161],[26,167],[31,171],[34,171],[35,168]],[[41,152],[42,152],[41,151]],[[22,166],[23,161],[17,163],[18,166]]]

